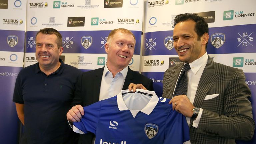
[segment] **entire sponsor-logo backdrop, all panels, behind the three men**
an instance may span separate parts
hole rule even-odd
[[[106,63],[104,44],[111,30],[131,30],[136,36],[136,47],[129,66],[151,78],[160,96],[164,71],[179,63],[172,45],[173,20],[177,14],[186,12],[207,19],[210,27],[207,52],[212,59],[245,72],[252,90],[255,119],[255,5],[254,0],[0,0],[0,143],[17,141],[13,88],[23,66],[23,54],[24,67],[37,62],[38,30],[52,27],[60,31],[64,47],[61,58],[83,71]],[[249,142],[238,141],[255,142],[255,137]]]

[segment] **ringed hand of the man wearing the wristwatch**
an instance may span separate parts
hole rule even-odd
[[[189,101],[186,95],[179,95],[173,97],[169,104],[172,104],[172,109],[182,113],[186,117],[192,117],[194,108],[193,104]]]

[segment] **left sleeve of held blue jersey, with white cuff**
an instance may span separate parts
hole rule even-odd
[[[73,131],[76,133],[92,132],[96,134],[97,124],[100,116],[101,102],[96,102],[89,106],[84,107],[84,115],[80,122],[73,123]]]

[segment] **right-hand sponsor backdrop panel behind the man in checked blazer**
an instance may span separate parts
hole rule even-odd
[[[256,120],[255,6],[255,0],[144,0],[141,72],[153,80],[157,95],[162,95],[165,70],[180,63],[173,47],[174,18],[181,13],[197,13],[209,24],[209,56],[245,72]],[[256,143],[256,135],[249,142],[237,143]]]

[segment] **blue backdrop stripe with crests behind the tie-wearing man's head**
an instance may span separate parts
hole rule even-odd
[[[209,28],[208,54],[252,53],[256,52],[256,24]],[[142,56],[177,55],[174,48],[166,48],[166,38],[172,37],[173,31],[144,33]],[[219,46],[215,46],[215,38],[221,38]]]

